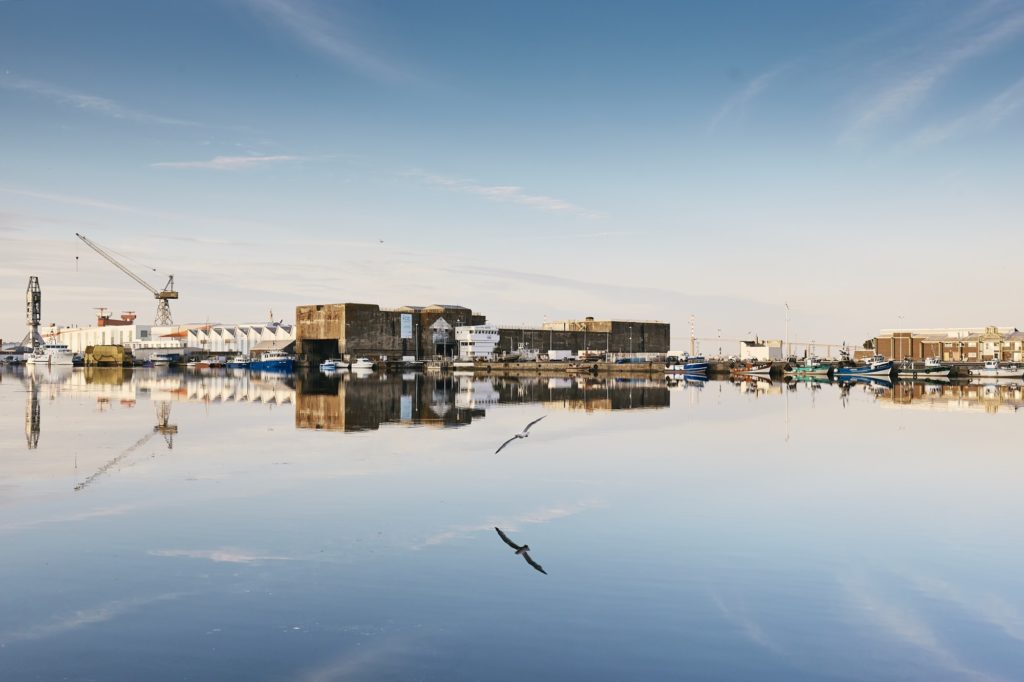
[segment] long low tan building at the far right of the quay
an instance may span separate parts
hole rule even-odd
[[[1015,327],[884,329],[873,339],[874,352],[895,359],[937,357],[947,363],[988,359],[1024,361],[1024,332]]]

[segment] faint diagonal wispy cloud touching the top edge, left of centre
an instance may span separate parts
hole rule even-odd
[[[302,0],[245,0],[274,26],[281,27],[308,47],[337,59],[365,76],[398,80],[403,74],[395,67],[356,44],[336,22]]]

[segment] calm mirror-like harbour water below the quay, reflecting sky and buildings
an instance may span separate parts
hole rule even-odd
[[[5,370],[0,678],[1024,679],[1021,406]]]

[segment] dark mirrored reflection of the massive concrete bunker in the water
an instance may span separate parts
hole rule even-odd
[[[669,407],[664,382],[632,378],[309,374],[296,377],[296,427],[332,431],[463,426],[487,408],[518,402],[583,411]]]

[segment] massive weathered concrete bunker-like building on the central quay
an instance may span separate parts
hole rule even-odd
[[[296,352],[310,363],[401,357],[481,357],[571,351],[577,355],[659,356],[669,350],[670,326],[648,321],[586,317],[541,327],[487,325],[460,305],[386,309],[370,303],[302,305],[295,310]],[[461,328],[475,328],[475,332]],[[497,331],[497,339],[494,334]],[[465,343],[464,343],[465,342]],[[477,346],[479,342],[479,346]]]

